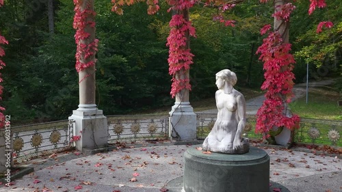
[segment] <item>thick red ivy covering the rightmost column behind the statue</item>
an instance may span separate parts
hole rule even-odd
[[[279,7],[272,16],[288,22],[294,8],[291,3],[287,3]],[[271,25],[265,25],[261,29],[261,35],[267,33],[269,29]],[[265,81],[261,89],[267,92],[266,99],[257,112],[255,132],[264,133],[264,137],[269,137],[267,134],[274,127],[298,128],[299,116],[287,115],[285,109],[293,97],[292,88],[295,79],[292,72],[295,60],[289,51],[291,51],[291,44],[283,42],[278,31],[269,32],[257,50],[257,53],[260,53],[259,59],[264,62],[265,70]]]

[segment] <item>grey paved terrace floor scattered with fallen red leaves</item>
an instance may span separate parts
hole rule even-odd
[[[181,191],[183,154],[197,146],[141,141],[107,153],[54,154],[29,161],[35,171],[0,191]],[[270,156],[269,179],[282,191],[342,191],[341,156],[262,148]]]

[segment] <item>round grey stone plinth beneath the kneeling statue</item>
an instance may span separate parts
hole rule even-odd
[[[269,155],[259,148],[246,154],[185,152],[185,192],[269,191]]]

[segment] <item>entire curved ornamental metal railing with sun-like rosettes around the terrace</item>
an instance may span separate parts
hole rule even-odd
[[[217,117],[216,113],[197,114],[197,138],[205,139]],[[169,139],[168,115],[113,115],[107,116],[108,143],[117,141],[148,141]],[[247,116],[244,137],[261,139],[255,134],[255,115]],[[21,163],[36,156],[73,148],[74,120],[63,120],[25,126],[12,126],[14,162]],[[342,121],[301,118],[294,141],[342,147]]]

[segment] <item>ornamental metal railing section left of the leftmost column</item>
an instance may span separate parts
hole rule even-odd
[[[73,120],[13,126],[14,163],[73,148]]]

